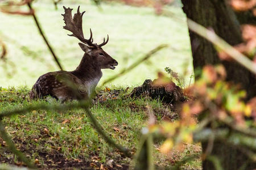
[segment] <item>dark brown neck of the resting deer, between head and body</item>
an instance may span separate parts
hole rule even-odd
[[[95,86],[97,86],[102,76],[101,68],[97,61],[88,54],[84,54],[79,66],[71,73],[82,80],[84,84],[93,83]]]

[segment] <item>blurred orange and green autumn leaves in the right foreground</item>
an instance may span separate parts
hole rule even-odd
[[[243,101],[245,91],[225,82],[225,78],[222,65],[205,66],[201,78],[184,90],[189,100],[181,105],[180,120],[149,124],[143,130],[144,135],[153,135],[155,141],[164,139],[160,152],[167,155],[184,149],[184,143],[225,139],[245,151],[251,162],[256,162],[256,97]],[[232,134],[232,138],[227,134]],[[212,158],[210,151],[202,156]]]

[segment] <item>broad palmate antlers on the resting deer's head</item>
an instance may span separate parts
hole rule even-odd
[[[64,17],[64,23],[65,26],[63,27],[64,29],[67,29],[68,31],[71,31],[72,34],[69,36],[74,36],[77,39],[79,39],[81,42],[84,42],[85,44],[89,45],[89,46],[103,46],[106,45],[109,41],[109,35],[108,35],[108,39],[105,42],[105,38],[104,41],[102,42],[102,44],[97,45],[97,44],[93,44],[93,34],[92,34],[92,29],[90,29],[90,38],[89,39],[85,39],[84,38],[84,33],[82,32],[82,15],[84,15],[85,11],[80,13],[79,8],[80,6],[77,8],[77,12],[76,14],[73,16],[72,18],[72,8],[66,8],[65,6],[63,6],[64,10],[65,10],[65,14],[61,14]]]

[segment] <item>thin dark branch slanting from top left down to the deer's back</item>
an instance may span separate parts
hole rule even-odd
[[[32,8],[32,6],[31,6],[31,3],[30,3],[30,2],[27,3],[27,6],[30,8],[30,10],[34,10],[34,8]],[[57,65],[59,66],[60,70],[63,70],[63,67],[61,66],[61,64],[60,64],[60,62],[59,62],[59,58],[55,55],[55,53],[54,53],[54,51],[53,51],[51,45],[49,44],[49,42],[48,42],[46,36],[44,35],[43,29],[42,29],[40,23],[38,22],[38,18],[36,17],[35,12],[32,13],[32,16],[33,16],[33,18],[34,18],[34,20],[35,20],[36,26],[38,27],[38,31],[40,32],[40,35],[43,37],[44,42],[46,42],[46,45],[47,45],[49,51],[50,51],[51,54],[52,54],[52,57],[55,59],[55,62],[56,62]]]

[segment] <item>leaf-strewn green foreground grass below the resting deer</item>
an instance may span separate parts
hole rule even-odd
[[[144,97],[131,99],[127,97],[129,92],[120,89],[119,95],[113,95],[113,91],[98,91],[100,97],[91,110],[114,141],[135,152],[141,139],[140,130],[143,126],[147,126],[147,108],[151,108],[158,122],[162,121],[163,114],[172,117],[172,121],[178,116],[158,100]],[[58,103],[56,100],[50,102]],[[2,88],[0,91],[2,110],[40,103],[49,103],[49,101],[29,101],[27,87]],[[92,162],[92,158],[97,158],[97,162],[104,165],[111,159],[116,164],[131,163],[131,159],[124,158],[118,150],[110,147],[98,135],[81,109],[69,109],[63,112],[32,111],[5,117],[3,122],[19,150],[31,160],[38,159],[43,167],[47,167],[49,160],[53,161],[52,164],[57,164],[52,155],[62,155],[62,159],[67,162],[72,159]],[[3,145],[1,138],[0,144],[0,155],[2,155],[0,160],[9,158],[7,163],[18,164],[18,159]],[[160,143],[155,143],[154,147],[155,163],[160,166],[170,166],[185,156],[200,154],[200,147],[197,145],[185,145],[184,150],[175,151],[172,156],[159,153]],[[48,158],[42,156],[44,154],[48,155]],[[200,161],[187,163],[183,169],[200,169]]]

